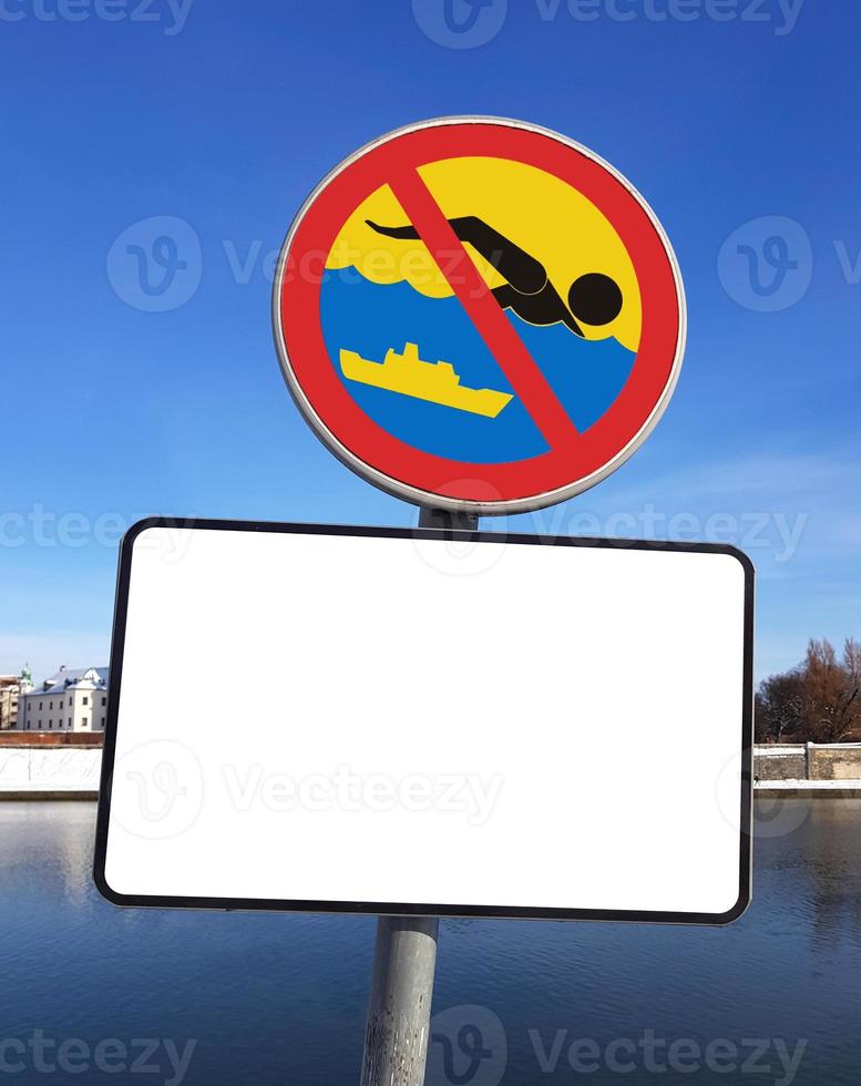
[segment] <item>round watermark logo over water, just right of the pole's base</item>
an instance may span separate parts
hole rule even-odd
[[[429,1083],[499,1086],[508,1059],[505,1027],[488,1007],[449,1007],[431,1020]]]

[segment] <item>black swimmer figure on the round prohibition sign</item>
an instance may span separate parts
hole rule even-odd
[[[387,237],[416,240],[414,226],[380,226],[369,218],[371,229]],[[544,265],[520,246],[503,237],[475,215],[450,218],[449,225],[461,242],[480,253],[506,280],[493,289],[503,309],[512,309],[531,325],[555,325],[562,321],[576,336],[583,337],[584,325],[607,325],[622,310],[622,291],[615,279],[601,272],[588,272],[568,288],[568,304],[562,300],[550,281]]]

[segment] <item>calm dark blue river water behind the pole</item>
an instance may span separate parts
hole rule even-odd
[[[90,881],[94,816],[0,805],[0,1083],[178,1086],[163,1044],[135,1047],[166,1038],[196,1042],[189,1086],[356,1084],[373,921],[119,910]],[[857,1086],[861,801],[758,821],[755,902],[726,930],[443,922],[432,1086]],[[85,1069],[40,1073],[30,1048],[11,1074],[9,1039],[39,1029],[81,1038]],[[96,1069],[110,1038],[148,1069]]]

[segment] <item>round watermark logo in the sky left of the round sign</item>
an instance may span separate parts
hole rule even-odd
[[[144,313],[178,309],[197,293],[201,239],[183,218],[154,215],[133,223],[107,253],[107,279],[126,305]]]

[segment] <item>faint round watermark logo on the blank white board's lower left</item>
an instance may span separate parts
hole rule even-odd
[[[189,747],[154,739],[123,755],[114,767],[123,801],[114,814],[127,833],[166,840],[191,829],[203,807],[203,771]]]

